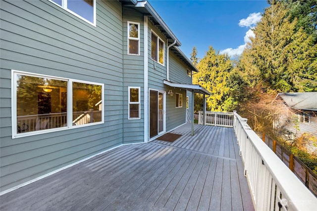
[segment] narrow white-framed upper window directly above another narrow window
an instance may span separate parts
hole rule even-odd
[[[128,21],[128,54],[140,55],[140,23]]]

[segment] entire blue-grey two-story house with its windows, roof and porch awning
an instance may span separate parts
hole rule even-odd
[[[1,194],[151,141],[186,123],[188,93],[210,94],[146,1],[0,5]]]

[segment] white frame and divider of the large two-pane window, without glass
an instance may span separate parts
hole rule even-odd
[[[83,83],[83,84],[94,84],[94,85],[101,85],[102,86],[102,105],[103,105],[103,110],[102,110],[102,120],[101,122],[96,122],[96,123],[88,123],[84,125],[78,125],[78,126],[73,126],[72,121],[67,121],[67,126],[66,127],[56,127],[56,128],[51,128],[51,129],[43,129],[43,130],[37,130],[37,131],[31,131],[31,132],[25,132],[25,133],[17,133],[17,114],[16,114],[16,109],[17,109],[17,99],[16,99],[16,75],[25,75],[25,76],[33,76],[33,77],[45,77],[48,79],[55,79],[55,80],[60,80],[60,81],[66,81],[67,82],[67,120],[72,120],[72,114],[73,114],[73,109],[72,109],[72,83],[77,82],[77,83]],[[55,77],[55,76],[49,76],[49,75],[43,75],[43,74],[37,74],[37,73],[30,73],[30,72],[25,72],[25,71],[18,71],[18,70],[11,70],[11,120],[12,120],[12,139],[13,138],[20,138],[20,137],[26,137],[26,136],[32,136],[32,135],[37,135],[37,134],[44,134],[44,133],[49,133],[49,132],[54,132],[54,131],[61,131],[61,130],[66,130],[66,129],[72,129],[72,128],[78,128],[78,127],[89,127],[93,125],[100,125],[105,123],[105,100],[104,100],[104,94],[105,94],[105,85],[100,84],[100,83],[95,83],[95,82],[89,82],[89,81],[81,81],[81,80],[74,80],[74,79],[68,79],[68,78],[61,78],[61,77]]]

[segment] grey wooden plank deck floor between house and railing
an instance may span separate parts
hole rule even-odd
[[[190,125],[174,141],[126,145],[4,194],[1,211],[254,210],[232,128]]]

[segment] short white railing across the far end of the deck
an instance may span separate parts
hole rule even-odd
[[[199,111],[198,124],[209,126],[233,127],[233,113],[206,111],[204,123],[204,112]]]

